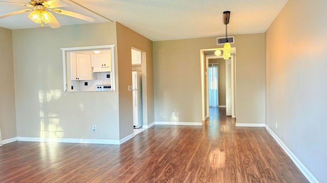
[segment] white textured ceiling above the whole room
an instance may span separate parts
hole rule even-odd
[[[2,0],[28,4],[28,0]],[[109,21],[85,10],[69,0],[64,9]],[[74,0],[98,14],[118,21],[152,41],[225,35],[223,12],[230,11],[228,35],[264,33],[282,10],[287,0]],[[28,9],[25,6],[0,2],[0,15]],[[27,13],[0,19],[0,26],[9,29],[33,28]],[[61,25],[89,23],[55,14]],[[47,26],[47,25],[45,25]]]

